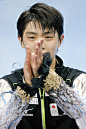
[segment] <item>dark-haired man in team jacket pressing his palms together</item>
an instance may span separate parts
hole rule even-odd
[[[0,80],[0,129],[85,129],[86,74],[56,56],[63,16],[34,4],[17,22],[24,68]]]

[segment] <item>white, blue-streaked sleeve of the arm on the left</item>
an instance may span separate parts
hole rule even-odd
[[[7,81],[0,80],[0,129],[15,129],[29,105],[18,91],[12,91]]]

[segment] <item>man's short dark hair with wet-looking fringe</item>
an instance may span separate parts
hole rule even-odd
[[[45,28],[57,30],[59,38],[63,33],[63,16],[56,10],[54,7],[48,6],[44,3],[36,3],[28,10],[24,11],[18,21],[17,21],[17,30],[18,36],[23,38],[23,32],[26,28],[26,25],[30,21],[38,21],[42,26],[42,29]]]

